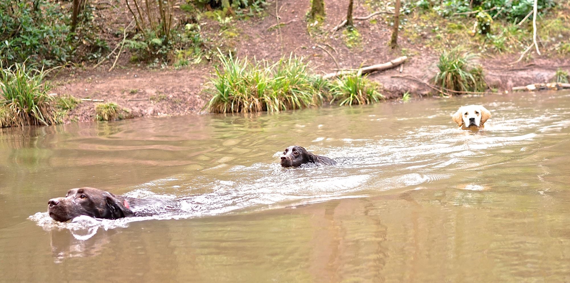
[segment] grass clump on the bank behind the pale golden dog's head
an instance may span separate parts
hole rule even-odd
[[[478,56],[463,53],[460,48],[443,51],[439,56],[435,84],[443,90],[459,92],[481,92],[487,87],[483,79],[483,68],[477,63]]]

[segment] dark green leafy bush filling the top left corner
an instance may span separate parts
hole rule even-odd
[[[51,67],[99,58],[108,46],[94,33],[93,9],[85,6],[72,32],[70,13],[58,3],[0,1],[0,62],[9,65],[28,60]]]

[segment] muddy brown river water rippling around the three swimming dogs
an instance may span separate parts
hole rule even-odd
[[[570,92],[3,129],[0,179],[3,282],[570,281]],[[53,222],[80,186],[188,200]]]

